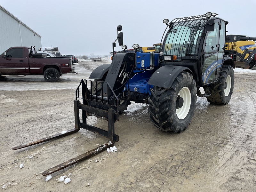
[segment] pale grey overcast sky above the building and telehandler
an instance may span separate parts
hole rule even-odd
[[[244,2],[244,4],[243,4]],[[42,36],[42,47],[59,47],[62,54],[109,55],[118,25],[124,44],[160,43],[166,25],[175,19],[218,13],[227,20],[227,34],[256,36],[256,1],[238,0],[0,0],[0,4]],[[122,50],[118,43],[116,50]]]

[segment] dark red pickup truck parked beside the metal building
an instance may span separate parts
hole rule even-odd
[[[75,72],[71,58],[47,57],[47,54],[31,50],[32,47],[11,47],[2,53],[0,77],[44,75],[46,81],[55,82],[62,74]]]

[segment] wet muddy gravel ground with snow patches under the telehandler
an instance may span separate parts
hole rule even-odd
[[[75,89],[101,64],[80,62],[78,74],[64,74],[55,83],[43,76],[0,81],[3,191],[255,191],[256,73],[236,71],[228,105],[211,105],[198,97],[195,115],[184,132],[158,130],[149,120],[148,105],[132,103],[115,124],[116,153],[102,152],[53,173],[46,182],[41,172],[107,139],[80,130],[24,149],[12,147],[74,128]],[[95,117],[88,124],[107,129],[107,122]],[[62,175],[71,181],[57,183]]]

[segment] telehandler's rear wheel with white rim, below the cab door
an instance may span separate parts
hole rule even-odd
[[[207,97],[208,102],[216,105],[226,105],[233,93],[234,78],[233,68],[228,65],[222,66],[219,80],[208,86],[212,93],[211,96]]]

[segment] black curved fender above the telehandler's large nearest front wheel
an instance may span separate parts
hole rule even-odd
[[[164,65],[156,70],[150,77],[148,84],[157,87],[170,88],[175,78],[182,72],[188,71],[192,74],[191,70],[187,67]]]

